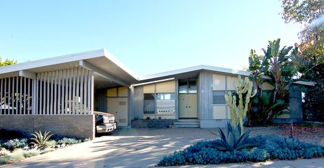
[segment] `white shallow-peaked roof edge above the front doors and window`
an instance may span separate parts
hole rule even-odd
[[[179,74],[179,73],[187,73],[190,71],[199,71],[199,70],[217,71],[217,72],[221,72],[221,73],[231,73],[231,74],[235,74],[235,75],[250,75],[251,74],[248,71],[227,69],[227,68],[222,68],[222,67],[213,67],[213,66],[208,66],[208,65],[198,65],[195,67],[188,67],[188,68],[184,68],[184,69],[176,69],[173,71],[166,71],[163,73],[155,73],[152,75],[146,75],[146,76],[140,77],[139,80],[140,81],[141,80],[150,80],[150,79],[154,79],[157,77],[164,77],[164,76],[175,75],[175,74]]]

